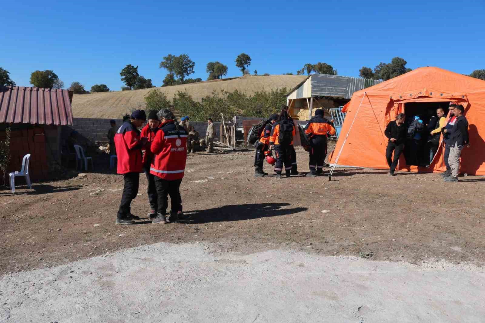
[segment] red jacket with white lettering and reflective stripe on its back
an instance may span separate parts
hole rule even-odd
[[[178,127],[178,129],[177,129]],[[150,150],[155,154],[150,165],[150,174],[166,180],[183,178],[187,161],[187,132],[174,120],[167,120],[160,125]]]

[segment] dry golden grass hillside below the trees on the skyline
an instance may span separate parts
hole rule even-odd
[[[303,75],[246,75],[239,78],[203,81],[192,84],[159,87],[172,100],[177,91],[185,91],[199,101],[213,91],[238,90],[252,94],[256,91],[271,91],[273,89],[293,88],[307,76]],[[89,118],[121,118],[131,108],[143,108],[144,97],[151,89],[116,91],[74,95],[72,113],[74,117]]]

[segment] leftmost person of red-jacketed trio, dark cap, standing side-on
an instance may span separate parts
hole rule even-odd
[[[124,122],[114,135],[118,157],[117,173],[123,174],[125,180],[116,225],[130,225],[134,223],[133,219],[140,219],[131,214],[130,204],[138,194],[140,173],[143,168],[142,147],[146,144],[146,138],[140,138],[140,131],[137,128],[143,126],[145,120],[145,111],[135,110],[131,113],[130,120]]]

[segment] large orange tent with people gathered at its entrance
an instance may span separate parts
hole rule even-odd
[[[471,147],[462,151],[460,173],[485,175],[485,81],[437,67],[417,68],[354,93],[344,108],[347,115],[330,162],[335,163],[348,134],[338,165],[388,169],[384,130],[398,113],[406,113],[406,105],[416,107],[417,102],[455,102],[465,107]],[[407,165],[403,154],[397,169],[444,171],[442,139],[429,168]]]

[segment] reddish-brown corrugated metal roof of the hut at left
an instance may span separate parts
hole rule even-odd
[[[72,125],[72,91],[0,87],[0,123]]]

